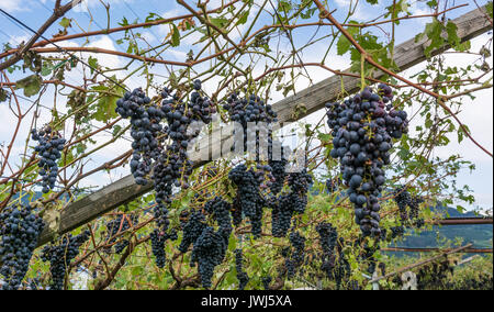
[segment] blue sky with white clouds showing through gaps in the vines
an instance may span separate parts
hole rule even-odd
[[[45,22],[45,20],[52,14],[50,10],[54,7],[54,0],[0,0],[0,8],[7,10],[9,13],[13,14],[18,19],[24,21],[27,25],[30,25],[33,29],[37,29],[41,24]],[[66,1],[63,1],[66,2]],[[149,12],[155,12],[164,18],[167,16],[173,16],[177,14],[183,14],[187,13],[187,11],[179,7],[176,1],[172,0],[166,0],[166,1],[159,1],[159,0],[147,0],[147,1],[137,1],[137,0],[109,0],[104,2],[110,2],[111,4],[111,25],[110,26],[117,26],[117,23],[122,21],[123,16],[125,16],[130,22],[138,20],[139,22],[143,22],[146,16],[149,14]],[[193,3],[193,1],[188,1],[189,3]],[[221,0],[212,0],[210,1],[209,8],[215,8],[217,4],[220,4]],[[225,1],[226,2],[226,1]],[[256,0],[256,3],[260,2]],[[276,3],[277,1],[273,1]],[[348,5],[350,3],[349,0],[336,0],[330,1],[332,8],[336,9],[335,16],[338,20],[341,20],[348,10]],[[484,4],[486,1],[478,1],[479,4]],[[351,2],[355,3],[355,2]],[[377,12],[382,12],[383,7],[388,7],[392,3],[392,1],[380,1],[379,5],[370,5],[366,3],[364,1],[360,1],[359,7],[356,10],[356,15],[352,18],[359,22],[369,21],[372,18],[377,15]],[[458,10],[454,10],[450,13],[448,13],[448,18],[453,19],[458,15],[461,15],[470,10],[473,10],[475,8],[475,4],[473,1],[464,1],[464,3],[469,3],[469,7],[461,8]],[[100,30],[101,27],[106,26],[106,12],[100,4],[98,0],[89,0],[87,1],[87,8],[89,8],[89,11],[85,7],[78,7],[77,9],[70,11],[67,14],[67,18],[75,19],[77,21],[77,24],[74,24],[74,27],[69,30],[69,33],[76,33],[80,32],[78,26],[82,27],[85,31],[94,31]],[[268,4],[268,9],[270,9],[270,4]],[[429,13],[426,4],[423,1],[417,1],[412,4],[409,8],[409,11],[413,14],[425,14]],[[90,16],[93,18],[93,21],[90,22]],[[417,20],[411,20],[411,21],[403,21],[400,26],[397,27],[396,32],[396,40],[397,44],[401,42],[404,42],[406,40],[409,40],[413,37],[419,30],[423,30],[425,24],[429,22],[429,19],[417,19]],[[270,18],[265,14],[257,23],[257,26],[262,26],[265,24],[270,23]],[[27,31],[22,30],[14,23],[12,23],[10,20],[8,20],[4,15],[0,14],[0,43],[7,43],[9,42],[11,45],[15,46],[22,41],[26,41],[32,34],[30,34]],[[58,32],[59,26],[54,25],[52,26],[46,34],[48,36],[52,36]],[[150,44],[157,44],[162,41],[162,38],[167,35],[169,31],[169,26],[161,25],[153,29],[146,29],[141,30],[143,36],[150,43]],[[325,29],[321,29],[318,31],[318,35],[324,34]],[[389,32],[389,27],[384,26],[382,31],[379,31],[377,29],[372,30],[375,32],[375,34],[379,34],[382,36],[383,40],[386,40],[386,36],[384,32]],[[242,30],[240,30],[242,32]],[[293,32],[294,42],[295,45],[302,45],[307,42],[307,38],[312,36],[315,32],[315,29],[303,29],[297,30]],[[92,37],[90,42],[90,46],[99,46],[104,48],[111,48],[116,51],[125,51],[126,46],[119,45],[116,43],[116,40],[119,40],[123,34],[122,33],[115,33],[110,36],[97,36]],[[233,34],[233,37],[238,37],[238,34]],[[472,51],[478,51],[482,44],[484,44],[490,36],[483,35],[474,41],[472,41]],[[184,60],[186,53],[189,52],[189,49],[198,49],[198,45],[193,45],[193,43],[197,41],[197,37],[191,37],[189,40],[182,41],[182,45],[180,47],[173,48],[172,51],[168,52],[166,54],[166,57],[172,60]],[[301,54],[301,57],[304,59],[304,62],[319,62],[322,58],[322,51],[325,51],[325,48],[328,45],[329,40],[322,41],[318,44],[307,48],[304,53]],[[60,43],[61,46],[77,46],[82,45],[83,40],[77,40],[72,42],[67,43]],[[281,47],[289,49],[289,45],[287,42],[281,42]],[[83,57],[87,57],[87,55],[82,55]],[[98,55],[98,59],[100,64],[103,64],[108,67],[117,67],[119,65],[124,64],[124,59],[121,57],[113,57],[113,56],[102,56]],[[474,58],[469,57],[462,57],[462,58],[456,58],[456,56],[447,56],[447,62],[450,62],[451,64],[468,64],[469,62],[474,62]],[[491,66],[492,66],[492,57],[489,59]],[[349,66],[349,59],[347,56],[337,56],[334,51],[332,51],[330,56],[328,58],[327,65],[330,66],[334,69],[345,69]],[[411,75],[413,73],[416,73],[423,68],[423,65],[417,65],[414,68],[411,68],[406,70],[407,75]],[[162,75],[167,75],[166,70],[164,70],[162,67],[157,66],[155,68],[157,73],[160,73]],[[257,68],[257,73],[262,73],[262,68]],[[321,81],[330,75],[327,71],[324,71],[322,69],[311,68],[308,69],[311,77],[313,79],[313,82]],[[80,78],[81,78],[81,71],[74,73],[74,75],[68,75],[68,82],[80,85]],[[12,76],[12,79],[19,79],[22,75],[16,74]],[[133,78],[128,82],[128,87],[135,88],[139,87],[142,82],[139,79],[143,78]],[[300,79],[296,81],[296,88],[297,90],[301,90],[303,88],[306,88],[310,85],[310,81],[307,79]],[[49,92],[47,92],[48,94]],[[476,99],[471,101],[467,100],[469,102],[469,109],[465,110],[460,114],[460,118],[470,126],[472,130],[473,136],[481,142],[489,151],[493,151],[493,110],[492,110],[492,89],[484,90],[476,93]],[[271,103],[280,100],[282,96],[280,92],[273,92]],[[46,107],[53,105],[53,97],[45,97],[42,100],[42,103]],[[25,103],[27,105],[29,102]],[[8,111],[2,111],[0,108],[0,143],[8,142],[11,135],[11,129],[12,129],[12,115],[9,116]],[[321,118],[322,112],[315,113],[306,119],[306,121],[311,122],[313,120],[317,120]],[[49,116],[45,116],[45,119],[49,119]],[[29,130],[29,125],[23,125],[24,130]],[[110,134],[102,134],[101,140],[108,140]],[[492,187],[493,187],[493,160],[485,154],[483,154],[479,148],[473,146],[468,140],[463,141],[461,145],[456,144],[456,138],[452,138],[452,144],[448,146],[447,148],[441,148],[437,152],[438,156],[448,156],[451,154],[460,154],[465,159],[474,161],[476,165],[476,170],[473,174],[470,174],[469,171],[463,171],[459,178],[460,183],[467,183],[469,185],[474,191],[475,196],[478,198],[478,204],[483,208],[492,208],[493,202],[493,196],[492,196]],[[23,138],[22,138],[23,140]],[[18,148],[18,152],[21,153],[22,151],[22,140],[19,140],[20,145]],[[88,169],[91,166],[97,166],[101,164],[104,160],[111,159],[112,156],[115,156],[115,153],[117,152],[125,152],[130,147],[128,142],[122,141],[119,142],[116,145],[113,145],[111,148],[100,151],[94,157],[92,158],[92,161],[88,165]],[[99,175],[91,177],[88,179],[88,183],[94,185],[94,186],[102,186],[102,183],[110,182],[111,180],[115,180],[121,176],[124,176],[127,174],[127,168],[124,168],[122,170],[116,170],[115,172],[112,172],[111,176],[108,175]],[[104,181],[104,182],[102,182]],[[474,208],[474,207],[469,207]]]

